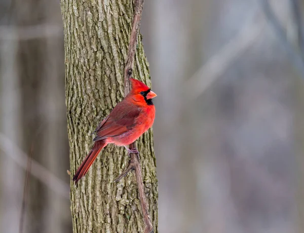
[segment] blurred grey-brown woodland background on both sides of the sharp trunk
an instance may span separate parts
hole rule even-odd
[[[145,1],[160,232],[304,232],[303,12]],[[72,232],[64,81],[59,1],[0,0],[0,232]]]

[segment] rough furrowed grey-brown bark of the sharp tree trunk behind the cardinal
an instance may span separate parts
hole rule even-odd
[[[92,146],[97,124],[124,96],[124,63],[133,19],[130,0],[61,0],[66,63],[70,171]],[[134,78],[150,86],[148,62],[138,38]],[[157,232],[158,185],[153,132],[138,141],[149,213]],[[144,224],[133,173],[113,182],[128,165],[125,149],[108,145],[79,185],[71,184],[74,232],[142,232]]]

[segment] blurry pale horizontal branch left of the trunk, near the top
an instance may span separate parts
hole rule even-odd
[[[33,26],[0,26],[0,40],[32,40],[62,36],[62,28],[58,25],[41,24]]]

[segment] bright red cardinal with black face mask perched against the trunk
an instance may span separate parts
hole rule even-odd
[[[95,129],[94,146],[75,173],[75,184],[86,175],[101,149],[109,143],[124,146],[129,153],[138,153],[136,148],[130,150],[127,145],[135,142],[153,125],[155,106],[152,98],[157,96],[156,93],[144,83],[130,80],[132,89],[129,94]]]

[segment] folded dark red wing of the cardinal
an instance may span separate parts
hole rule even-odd
[[[127,132],[135,125],[135,119],[141,109],[134,105],[120,102],[96,128],[94,141],[114,137]]]

